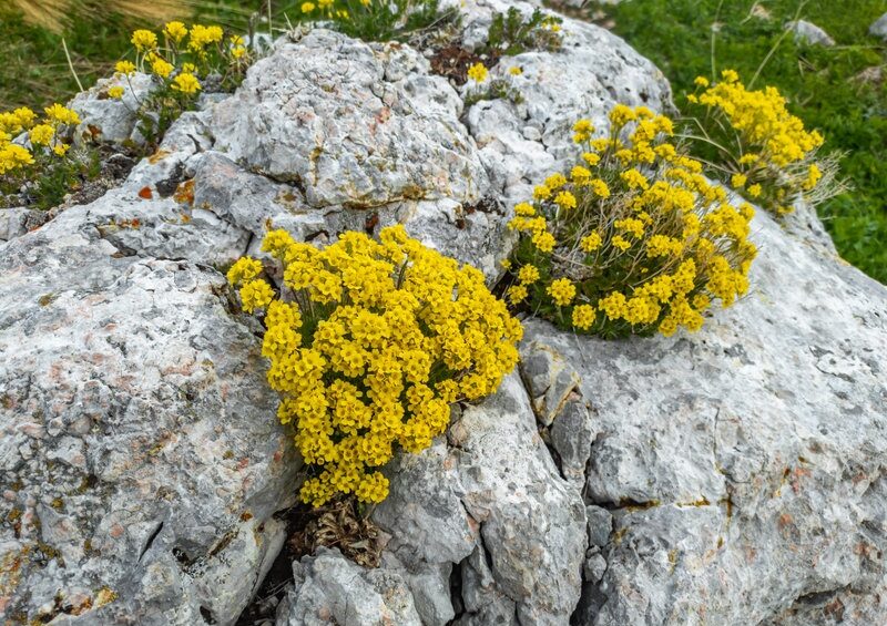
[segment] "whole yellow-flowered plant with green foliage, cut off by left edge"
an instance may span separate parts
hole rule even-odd
[[[40,120],[28,107],[0,112],[0,206],[11,202],[35,204],[40,208],[58,205],[81,175],[92,165],[86,154],[74,158],[69,151],[77,112],[53,104]],[[14,141],[18,135],[21,140]],[[26,182],[30,188],[20,189]]]

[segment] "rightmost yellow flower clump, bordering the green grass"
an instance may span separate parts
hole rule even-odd
[[[793,201],[823,177],[815,162],[823,136],[804,127],[776,88],[751,91],[733,70],[721,79],[699,76],[697,93],[687,96],[706,111],[699,116],[705,136],[695,137],[697,147],[732,172],[735,189],[777,214],[791,212]]]

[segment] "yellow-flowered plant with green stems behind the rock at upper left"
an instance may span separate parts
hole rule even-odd
[[[132,91],[130,76],[137,70],[150,73],[156,89],[139,101],[140,131],[155,143],[170,124],[194,107],[203,82],[212,79],[215,88],[230,91],[237,86],[252,62],[249,52],[239,35],[226,37],[221,27],[167,22],[161,35],[150,30],[132,33],[135,62],[120,61],[118,78],[125,79]],[[108,90],[110,98],[122,100],[126,88],[115,85]]]

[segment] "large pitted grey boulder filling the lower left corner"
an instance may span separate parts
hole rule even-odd
[[[65,217],[0,253],[0,613],[232,624],[298,469],[255,329],[217,273]]]

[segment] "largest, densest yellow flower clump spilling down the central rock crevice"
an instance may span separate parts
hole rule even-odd
[[[399,447],[419,452],[441,434],[450,404],[492,393],[518,360],[520,322],[483,275],[410,239],[345,233],[323,250],[269,232],[262,249],[282,266],[278,297],[263,266],[239,259],[227,278],[247,312],[264,311],[268,382],[278,417],[315,475],[302,499],[338,493],[380,502],[379,471]],[[527,276],[529,279],[530,276]]]

